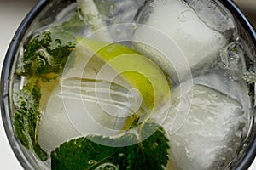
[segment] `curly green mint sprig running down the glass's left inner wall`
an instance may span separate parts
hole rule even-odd
[[[16,76],[26,77],[26,84],[20,90],[16,101],[15,134],[21,144],[32,150],[42,161],[48,155],[40,148],[37,139],[41,107],[49,97],[48,86],[54,87],[53,84],[57,82],[57,77],[63,71],[74,47],[73,40],[63,44],[56,36],[52,38],[51,32],[42,32],[28,42],[22,65],[15,72]],[[45,93],[42,94],[42,91]]]

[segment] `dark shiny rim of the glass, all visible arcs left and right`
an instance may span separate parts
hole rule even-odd
[[[225,8],[230,10],[230,13],[235,15],[235,18],[241,23],[244,30],[247,31],[247,34],[252,39],[254,46],[256,47],[256,32],[253,28],[253,25],[247,20],[245,14],[242,13],[241,8],[239,8],[233,0],[218,0],[221,4],[224,5]],[[14,65],[15,54],[17,49],[19,48],[20,41],[26,34],[29,26],[31,26],[33,20],[36,19],[38,14],[47,6],[48,3],[51,1],[49,0],[40,0],[32,9],[31,11],[26,14],[26,17],[20,23],[17,31],[15,32],[15,36],[13,37],[12,41],[9,44],[8,51],[5,55],[3,61],[3,68],[1,73],[1,87],[0,87],[0,102],[1,102],[1,115],[3,121],[3,127],[7,138],[9,140],[9,144],[15,153],[16,158],[20,162],[20,165],[25,169],[34,169],[34,165],[32,162],[28,161],[27,156],[24,155],[22,152],[23,145],[20,142],[17,142],[17,138],[15,137],[15,130],[12,124],[11,118],[11,108],[9,105],[10,97],[9,97],[9,77],[12,73],[12,67]],[[252,142],[250,143],[247,153],[245,156],[242,156],[241,161],[237,165],[236,169],[239,170],[246,170],[248,167],[251,166],[254,158],[256,156],[256,135],[253,136]]]

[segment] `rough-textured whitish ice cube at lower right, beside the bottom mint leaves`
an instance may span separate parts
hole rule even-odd
[[[236,99],[213,88],[194,85],[182,95],[177,88],[172,104],[163,127],[170,138],[174,167],[219,169],[236,156],[247,127],[247,113]],[[173,131],[172,125],[180,121],[177,114],[181,110],[187,111],[184,122]]]

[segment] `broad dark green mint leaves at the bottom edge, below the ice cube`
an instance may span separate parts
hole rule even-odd
[[[72,139],[51,152],[51,168],[164,169],[168,161],[169,145],[163,128],[153,122],[147,122],[139,127],[138,132],[138,137],[134,133],[125,133],[115,139],[102,136]]]

